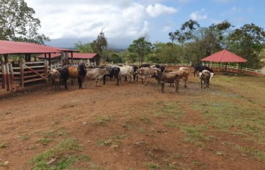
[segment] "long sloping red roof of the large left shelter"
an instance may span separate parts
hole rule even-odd
[[[37,45],[30,42],[13,42],[0,40],[0,55],[14,55],[14,54],[41,54],[41,53],[55,53],[61,51],[75,51],[57,47],[50,47],[46,45]]]

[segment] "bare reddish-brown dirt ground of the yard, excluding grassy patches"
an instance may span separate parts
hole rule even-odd
[[[76,83],[69,90],[44,86],[1,96],[0,169],[33,169],[30,159],[69,138],[81,145],[78,154],[91,159],[76,162],[76,169],[93,169],[91,162],[101,169],[265,169],[264,144],[218,130],[192,106],[244,94],[217,79],[226,78],[217,76],[210,89],[201,89],[191,76],[179,94],[169,85],[161,94],[154,81],[108,81],[101,87],[86,81],[81,90]],[[264,96],[256,100],[265,113]],[[194,135],[188,130],[195,127]],[[234,144],[259,149],[261,159]]]

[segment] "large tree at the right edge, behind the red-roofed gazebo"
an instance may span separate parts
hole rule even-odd
[[[229,36],[229,49],[247,59],[247,67],[261,67],[260,53],[265,46],[264,29],[254,23],[235,29]]]

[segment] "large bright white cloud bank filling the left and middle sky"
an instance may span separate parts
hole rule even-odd
[[[26,0],[40,18],[40,33],[51,39],[96,38],[102,28],[107,38],[137,38],[150,30],[149,16],[175,13],[162,4],[131,0]],[[159,3],[159,0],[156,1]]]

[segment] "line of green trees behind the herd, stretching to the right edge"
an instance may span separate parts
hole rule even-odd
[[[169,42],[151,43],[145,36],[134,40],[128,49],[115,52],[108,49],[104,33],[93,42],[76,44],[80,52],[97,52],[102,62],[154,62],[199,64],[204,57],[227,49],[247,59],[245,67],[259,68],[264,59],[264,28],[254,23],[235,28],[222,21],[201,27],[197,21],[189,20],[181,28],[169,33]]]

